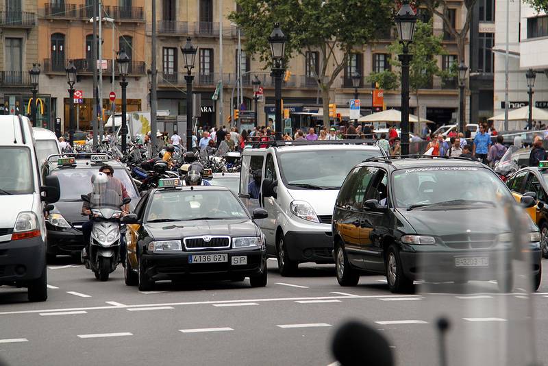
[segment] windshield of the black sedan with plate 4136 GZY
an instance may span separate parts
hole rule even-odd
[[[249,219],[230,191],[158,191],[153,195],[146,222]]]

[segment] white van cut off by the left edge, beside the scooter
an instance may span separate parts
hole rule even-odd
[[[27,117],[0,116],[0,285],[28,287],[47,300],[44,213],[59,199],[57,177],[42,183]]]

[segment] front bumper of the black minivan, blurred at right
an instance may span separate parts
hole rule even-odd
[[[540,249],[530,252],[532,275],[541,267]],[[406,277],[413,280],[454,281],[454,280],[497,280],[501,274],[512,271],[512,252],[497,251],[451,251],[451,252],[406,252],[399,254]],[[456,257],[488,257],[485,267],[456,267]]]

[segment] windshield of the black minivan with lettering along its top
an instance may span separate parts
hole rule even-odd
[[[495,203],[512,199],[508,188],[493,171],[479,167],[397,170],[393,173],[392,192],[397,208],[480,201]]]

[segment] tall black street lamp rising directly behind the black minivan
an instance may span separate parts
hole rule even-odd
[[[412,55],[409,54],[409,44],[413,41],[415,32],[416,14],[403,0],[395,19],[399,42],[403,45],[403,54],[398,58],[401,62],[401,154],[409,154],[409,63]]]

